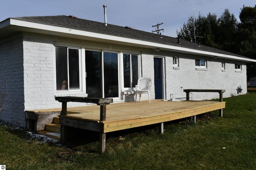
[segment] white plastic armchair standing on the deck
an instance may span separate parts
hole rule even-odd
[[[137,103],[137,94],[140,94],[140,102],[141,102],[141,94],[148,93],[148,100],[151,102],[150,99],[150,86],[152,84],[152,79],[148,77],[141,77],[138,79],[137,85],[135,85],[136,88],[136,96],[135,96],[135,102]]]

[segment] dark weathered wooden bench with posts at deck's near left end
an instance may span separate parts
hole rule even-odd
[[[106,106],[113,103],[113,99],[110,98],[83,98],[83,97],[55,97],[55,100],[62,102],[61,116],[67,115],[67,102],[83,102],[94,103],[100,105],[100,121],[106,121]],[[67,127],[60,123],[60,140],[62,143],[66,143],[67,139]],[[106,133],[100,133],[100,152],[104,152],[106,147]]]

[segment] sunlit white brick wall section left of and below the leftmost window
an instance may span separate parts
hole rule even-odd
[[[24,105],[25,110],[61,108],[55,93],[55,54],[51,40],[24,38]],[[64,96],[79,96],[64,94]],[[61,94],[58,94],[61,96]],[[68,102],[68,106],[84,106]]]

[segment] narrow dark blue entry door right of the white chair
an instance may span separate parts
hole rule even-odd
[[[162,59],[154,58],[155,99],[162,99]]]

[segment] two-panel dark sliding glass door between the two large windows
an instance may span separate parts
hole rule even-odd
[[[117,98],[118,53],[86,51],[86,93],[94,98]]]

